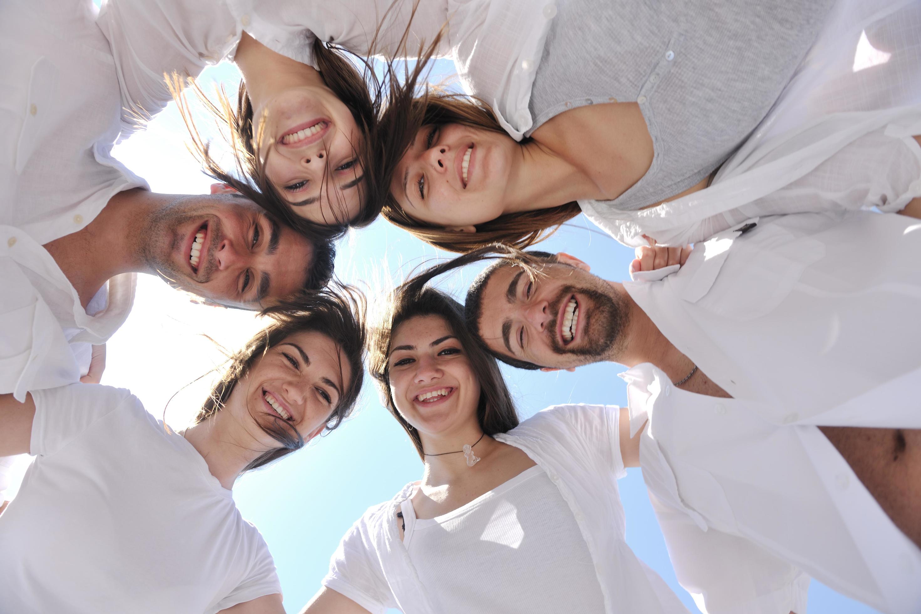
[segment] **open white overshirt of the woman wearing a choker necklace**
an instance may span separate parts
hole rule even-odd
[[[559,490],[571,515],[563,522],[574,522],[588,547],[605,612],[687,612],[624,540],[624,507],[617,491],[617,478],[625,474],[618,418],[618,408],[563,405],[540,411],[495,439],[525,452]],[[422,583],[397,525],[396,513],[417,484],[407,484],[391,501],[368,508],[356,521],[332,555],[324,586],[371,612],[438,611],[431,587]],[[496,589],[507,590],[507,586]]]

